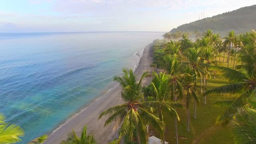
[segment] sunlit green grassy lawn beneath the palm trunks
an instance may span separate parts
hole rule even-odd
[[[225,54],[225,57],[227,54]],[[222,62],[223,56],[220,58]],[[227,57],[226,57],[227,58]],[[227,66],[226,58],[224,59],[224,66]],[[232,65],[233,66],[233,65]],[[232,68],[230,66],[230,68]],[[216,75],[216,79],[213,77],[207,80],[207,89],[212,89],[217,86],[222,86],[228,84],[228,80],[223,78],[221,74]],[[200,85],[200,79],[197,82]],[[197,106],[197,118],[194,118],[194,101],[192,100],[190,104],[190,132],[186,132],[186,128],[182,124],[178,124],[178,135],[180,144],[233,144],[232,132],[230,126],[225,128],[216,125],[216,118],[222,114],[225,108],[214,106],[215,102],[221,100],[234,100],[236,96],[224,95],[224,96],[207,96],[207,104],[204,104],[204,97],[200,96],[201,104]],[[184,100],[179,100],[180,103],[185,105]],[[181,120],[187,125],[187,109],[178,110],[178,114]],[[176,144],[175,141],[175,128],[174,119],[166,114],[166,134],[165,141],[169,144]],[[159,136],[159,135],[158,135]]]

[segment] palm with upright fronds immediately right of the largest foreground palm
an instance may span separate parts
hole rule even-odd
[[[151,83],[153,87],[152,91],[154,93],[154,97],[158,102],[165,103],[166,105],[169,106],[168,109],[162,106],[158,106],[157,108],[155,108],[155,112],[159,115],[159,118],[163,123],[164,123],[164,112],[171,114],[171,116],[174,116],[180,121],[180,118],[176,110],[174,110],[172,106],[175,106],[175,107],[178,106],[179,108],[183,108],[182,104],[170,102],[170,98],[168,98],[168,96],[170,96],[169,83],[170,83],[170,75],[166,75],[165,73],[162,73],[162,72],[160,72],[159,74],[156,74],[154,72],[154,78]],[[162,137],[163,144],[165,144],[164,131],[161,132],[161,137]]]

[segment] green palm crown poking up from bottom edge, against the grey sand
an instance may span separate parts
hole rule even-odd
[[[68,134],[68,139],[62,140],[60,144],[96,144],[96,140],[93,135],[87,135],[87,125],[85,125],[80,137],[72,130],[72,132]]]

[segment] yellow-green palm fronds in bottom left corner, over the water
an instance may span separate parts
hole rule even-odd
[[[16,124],[5,122],[5,116],[0,113],[0,144],[13,144],[20,142],[24,130]]]

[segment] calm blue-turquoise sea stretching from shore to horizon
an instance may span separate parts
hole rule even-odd
[[[26,144],[108,91],[136,52],[162,32],[0,34],[0,112],[22,126]]]

